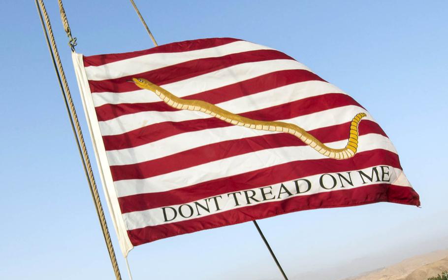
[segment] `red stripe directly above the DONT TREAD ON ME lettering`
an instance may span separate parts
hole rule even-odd
[[[127,213],[184,204],[223,193],[268,186],[316,174],[359,170],[378,165],[401,169],[397,154],[376,149],[357,153],[355,157],[342,161],[325,158],[288,162],[171,191],[120,197],[118,202],[122,213]]]

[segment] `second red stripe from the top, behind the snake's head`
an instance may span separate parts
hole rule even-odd
[[[221,70],[243,63],[268,61],[276,59],[294,60],[292,57],[276,50],[256,50],[229,54],[221,57],[208,57],[187,61],[156,70],[107,80],[89,80],[93,93],[113,92],[122,93],[140,90],[134,83],[128,81],[133,77],[145,78],[159,86],[196,77],[205,73]]]

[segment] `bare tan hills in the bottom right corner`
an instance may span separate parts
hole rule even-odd
[[[448,249],[415,256],[345,280],[426,280],[448,271]]]

